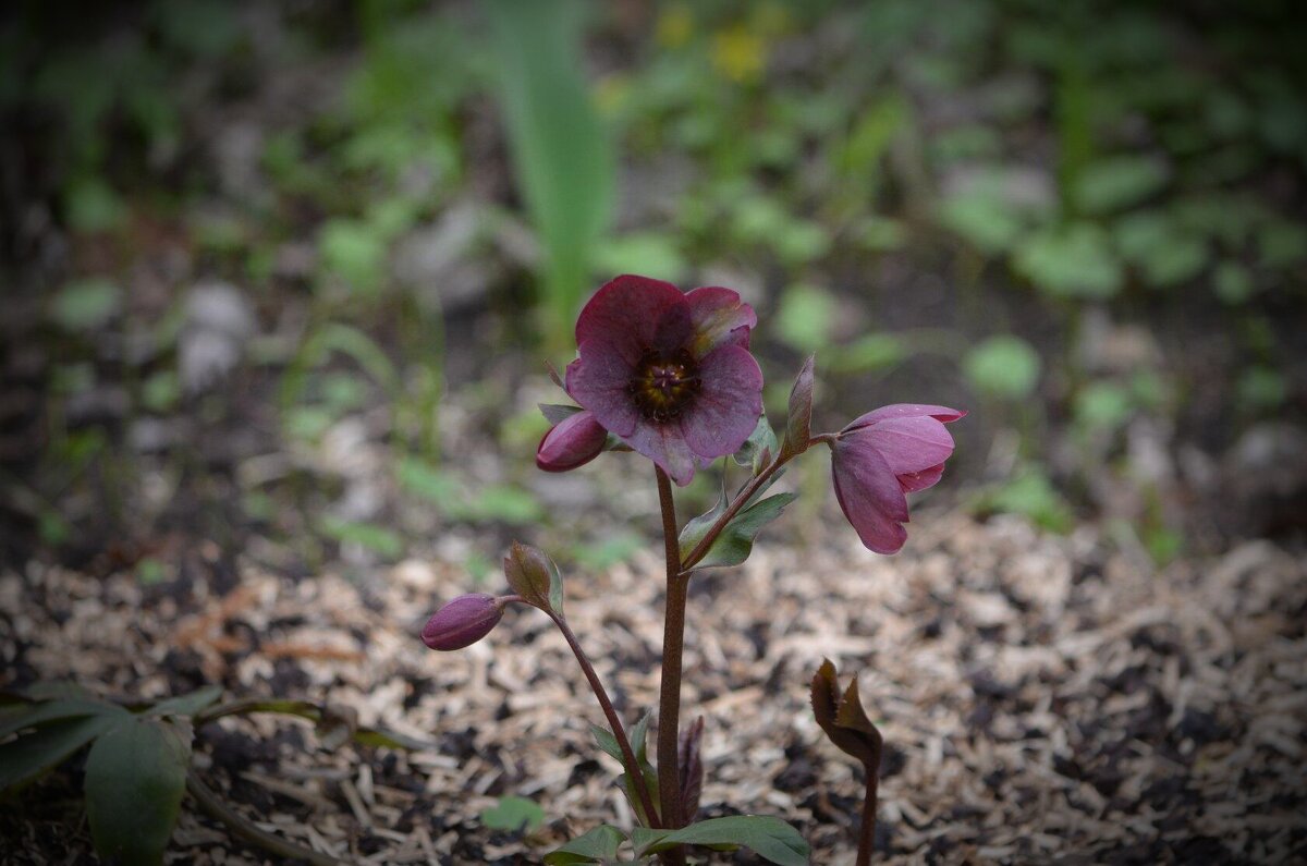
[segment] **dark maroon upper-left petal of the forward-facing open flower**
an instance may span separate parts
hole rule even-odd
[[[650,349],[684,345],[691,334],[690,309],[670,283],[625,273],[605,283],[576,319],[576,345],[606,345],[629,366]]]

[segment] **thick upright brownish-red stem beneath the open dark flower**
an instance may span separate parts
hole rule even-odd
[[[681,655],[685,649],[685,603],[690,576],[681,573],[681,549],[676,532],[676,502],[672,481],[660,467],[657,498],[663,510],[663,546],[667,551],[667,614],[663,624],[663,687],[657,708],[657,793],[663,806],[663,825],[676,829],[685,824],[681,814],[680,721]],[[668,866],[685,863],[685,850],[674,848],[663,856]]]

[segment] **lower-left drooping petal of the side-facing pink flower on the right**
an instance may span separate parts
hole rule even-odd
[[[842,438],[831,451],[835,497],[863,544],[897,553],[907,540],[907,497],[885,459],[865,441]]]

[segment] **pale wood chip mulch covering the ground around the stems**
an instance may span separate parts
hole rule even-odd
[[[352,862],[529,863],[595,824],[629,825],[617,765],[587,733],[601,716],[542,615],[511,610],[460,653],[417,640],[440,600],[478,589],[460,561],[451,542],[356,580],[242,563],[222,597],[193,568],[156,586],[9,570],[0,685],[71,678],[148,697],[221,683],[431,742],[325,752],[307,725],[267,716],[199,733],[212,789]],[[1304,577],[1299,555],[1268,542],[1155,570],[1091,528],[1063,538],[961,514],[915,521],[893,559],[847,531],[759,547],[691,590],[684,705],[706,718],[701,818],[779,815],[814,863],[852,863],[859,771],[806,706],[830,657],[843,680],[859,674],[887,743],[880,862],[1307,862]],[[657,699],[659,557],[574,574],[567,591],[569,620],[634,721]],[[78,785],[72,767],[7,808],[0,859],[88,858]],[[482,827],[505,794],[538,802],[546,823]],[[272,862],[193,808],[173,852]]]

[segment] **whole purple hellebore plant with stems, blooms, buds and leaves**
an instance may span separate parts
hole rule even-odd
[[[685,863],[693,845],[746,846],[775,863],[806,863],[806,842],[775,818],[741,815],[694,822],[703,784],[699,740],[703,719],[682,734],[681,657],[685,608],[694,573],[744,563],[762,527],[795,493],[766,496],[786,463],[817,443],[831,451],[839,505],[863,544],[877,553],[903,547],[907,493],[935,485],[953,454],[945,424],[962,411],[942,406],[886,406],[836,433],[812,432],[813,358],[789,394],[789,416],[778,438],[762,411],[762,372],[749,352],[758,318],[738,293],[719,286],[681,292],[669,283],[620,276],[589,300],[576,322],[578,357],[554,375],[575,406],[541,406],[553,424],[536,464],[566,472],[604,451],[635,451],[654,463],[667,555],[663,682],[657,708],[656,768],[646,751],[651,717],[627,730],[563,616],[562,577],[541,551],[514,544],[505,559],[512,594],[464,595],[431,616],[422,641],[435,650],[473,644],[494,629],[511,603],[540,608],[576,657],[608,729],[593,727],[599,746],[617,759],[620,780],[640,822],[631,833],[596,828],[563,845],[546,863]],[[672,483],[684,487],[718,458],[732,457],[749,477],[735,496],[677,526]],[[881,735],[857,696],[857,679],[840,693],[826,662],[812,683],[813,712],[836,747],[867,773],[859,863],[870,858]],[[626,846],[626,848],[623,848]],[[629,852],[629,853],[627,853]],[[634,857],[634,859],[631,859]],[[620,859],[621,858],[621,859]]]

